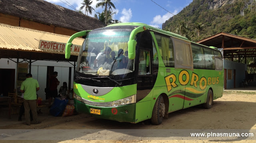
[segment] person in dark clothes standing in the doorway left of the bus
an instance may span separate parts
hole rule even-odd
[[[58,72],[54,71],[49,81],[49,93],[48,93],[48,105],[49,107],[52,104],[52,97],[56,98],[58,96],[57,87],[60,84],[60,81],[56,78],[58,76]]]

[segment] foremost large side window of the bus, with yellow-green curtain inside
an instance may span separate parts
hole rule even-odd
[[[164,62],[164,66],[174,67],[174,52],[172,39],[169,37],[160,36],[156,33],[155,36],[160,54]]]

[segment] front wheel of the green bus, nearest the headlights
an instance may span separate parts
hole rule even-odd
[[[159,125],[162,123],[165,114],[164,98],[160,95],[153,108],[151,123]]]

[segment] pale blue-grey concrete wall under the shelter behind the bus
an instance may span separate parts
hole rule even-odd
[[[227,69],[226,78],[227,78],[227,89],[234,88],[234,70],[236,70],[236,87],[240,87],[240,83],[243,79],[246,78],[247,66],[243,63],[233,62],[224,60],[224,69]],[[232,70],[232,79],[228,79],[228,70]]]

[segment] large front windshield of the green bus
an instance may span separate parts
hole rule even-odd
[[[128,40],[132,28],[99,28],[86,36],[80,50],[76,71],[91,75],[121,75],[134,71],[128,59]]]

